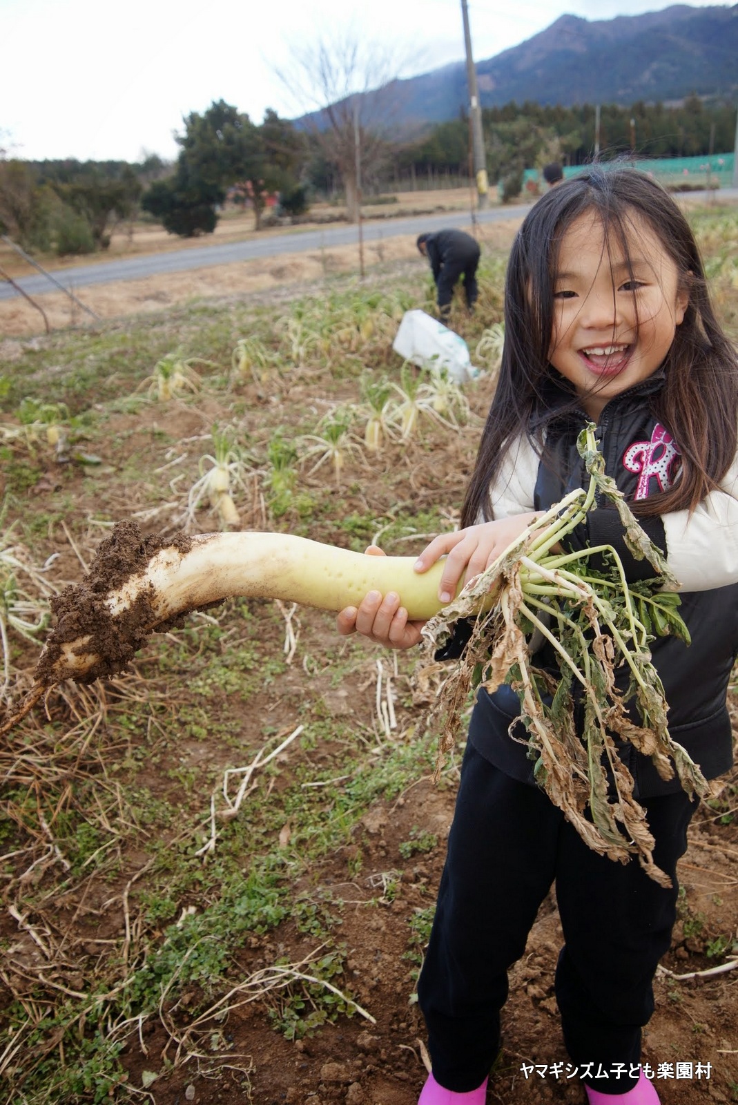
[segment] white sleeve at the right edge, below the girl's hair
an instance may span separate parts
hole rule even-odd
[[[738,457],[696,511],[662,515],[666,560],[683,591],[738,582]]]

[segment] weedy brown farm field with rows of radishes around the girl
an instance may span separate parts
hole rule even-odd
[[[738,212],[692,218],[738,340]],[[391,349],[405,309],[432,309],[411,251],[363,282],[321,269],[250,298],[191,288],[145,314],[122,298],[94,328],[6,330],[6,711],[31,685],[49,600],[116,523],[141,539],[226,528],[207,485],[219,466],[234,528],[412,556],[453,527],[494,390],[507,244],[485,241],[476,315],[454,307],[483,370],[461,392],[429,394]],[[463,751],[462,735],[434,782],[425,717],[447,667],[339,638],[329,613],[234,599],[11,728],[0,1102],[414,1105],[413,994]],[[738,970],[716,971],[738,953],[738,771],[724,783],[695,817],[645,1035],[665,1105],[738,1101]],[[583,1105],[559,943],[551,895],[510,974],[489,1102]]]

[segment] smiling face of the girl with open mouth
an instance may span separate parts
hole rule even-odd
[[[605,403],[663,362],[689,298],[676,265],[633,213],[628,252],[586,212],[563,233],[554,274],[549,360],[597,421]]]

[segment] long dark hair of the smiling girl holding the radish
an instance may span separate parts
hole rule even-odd
[[[635,169],[592,167],[542,196],[520,227],[505,283],[505,348],[495,397],[462,507],[462,526],[491,517],[489,485],[506,449],[526,435],[540,452],[551,411],[548,354],[554,327],[554,274],[561,235],[584,213],[598,215],[605,241],[630,256],[633,219],[644,220],[675,263],[689,302],[663,364],[665,382],[650,397],[671,431],[681,469],[672,487],[631,504],[641,515],[694,509],[715,488],[738,445],[738,358],[710,303],[699,251],[672,197]],[[560,379],[560,378],[559,378]],[[572,409],[577,401],[572,400]]]

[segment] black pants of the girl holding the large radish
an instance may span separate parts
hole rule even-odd
[[[679,791],[642,803],[671,875],[664,890],[637,860],[598,855],[536,787],[517,782],[467,745],[435,920],[418,985],[436,1081],[456,1093],[484,1082],[499,1050],[508,968],[525,950],[538,907],[556,881],[566,944],[556,998],[572,1065],[621,1077],[584,1078],[622,1094],[637,1077],[652,981],[676,916],[676,861],[695,809]],[[541,1041],[541,1046],[544,1042]],[[533,1056],[535,1062],[535,1056]]]

